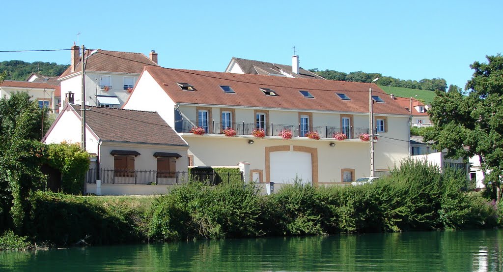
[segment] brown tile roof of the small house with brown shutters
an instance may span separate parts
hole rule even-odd
[[[80,106],[68,104],[80,115]],[[157,112],[87,107],[86,123],[102,141],[187,146]]]

